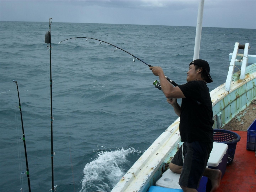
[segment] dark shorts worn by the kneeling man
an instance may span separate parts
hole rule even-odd
[[[184,142],[174,155],[171,163],[183,166],[179,185],[197,189],[205,171],[213,147],[212,142]],[[184,163],[182,160],[182,148]]]

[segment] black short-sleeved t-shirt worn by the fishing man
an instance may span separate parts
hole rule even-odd
[[[178,87],[186,97],[182,99],[179,123],[182,142],[214,142],[212,103],[206,83],[189,81]]]

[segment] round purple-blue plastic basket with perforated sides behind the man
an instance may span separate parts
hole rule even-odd
[[[215,142],[226,143],[228,145],[227,165],[230,165],[234,159],[237,142],[241,139],[240,135],[229,130],[214,129],[213,139]]]

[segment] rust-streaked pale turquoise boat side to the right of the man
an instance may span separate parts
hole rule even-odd
[[[214,126],[213,129],[219,129],[225,126],[234,116],[244,110],[252,100],[256,99],[256,63],[248,66],[246,78],[239,79],[239,72],[233,75],[233,83],[230,92],[211,91],[211,97],[217,97],[218,102],[213,105]],[[224,87],[225,84],[223,84]],[[220,114],[221,113],[221,114]],[[218,124],[218,118],[221,118],[222,125]]]

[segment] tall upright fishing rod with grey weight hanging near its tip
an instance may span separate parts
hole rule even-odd
[[[53,169],[53,156],[55,155],[55,153],[53,152],[53,131],[52,131],[52,121],[54,120],[54,118],[52,117],[52,79],[51,79],[51,22],[52,22],[52,18],[49,18],[49,31],[46,32],[45,34],[45,43],[47,43],[47,50],[50,50],[50,89],[51,89],[51,191],[55,191],[56,188],[54,187],[54,169]],[[48,48],[48,44],[50,44],[50,48]]]

